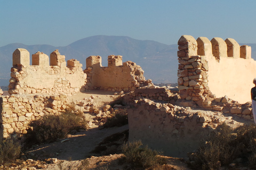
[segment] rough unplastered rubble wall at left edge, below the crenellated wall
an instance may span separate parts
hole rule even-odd
[[[0,139],[12,134],[27,133],[28,124],[44,114],[64,111],[68,104],[66,95],[38,96],[11,95],[0,98]]]

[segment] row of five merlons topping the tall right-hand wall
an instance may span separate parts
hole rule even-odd
[[[199,37],[197,40],[192,36],[181,36],[179,41],[178,57],[188,57],[196,55],[213,55],[217,60],[227,57],[251,58],[251,47],[247,45],[239,46],[236,40],[215,37],[211,41],[206,37]]]

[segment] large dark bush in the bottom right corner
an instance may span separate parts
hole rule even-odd
[[[222,124],[190,158],[194,161],[191,164],[194,169],[218,169],[236,163],[237,158],[256,168],[256,127],[243,125],[233,130]]]

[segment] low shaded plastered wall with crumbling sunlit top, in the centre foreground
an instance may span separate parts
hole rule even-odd
[[[187,157],[219,123],[236,123],[221,112],[191,112],[172,104],[138,100],[127,110],[129,141],[141,140],[164,155]]]

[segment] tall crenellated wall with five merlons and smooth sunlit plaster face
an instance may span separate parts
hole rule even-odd
[[[178,41],[180,97],[204,105],[205,98],[223,97],[246,103],[251,101],[252,80],[256,77],[256,62],[250,46],[239,46],[231,38],[206,37],[195,40],[181,36]]]

